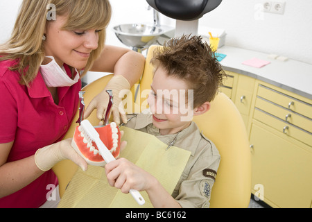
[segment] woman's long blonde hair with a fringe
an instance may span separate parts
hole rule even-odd
[[[20,83],[29,86],[44,60],[42,37],[47,15],[55,6],[56,16],[67,16],[64,30],[101,30],[98,33],[98,49],[92,51],[84,73],[92,67],[105,46],[106,28],[110,23],[112,8],[108,0],[23,0],[12,35],[8,42],[0,46],[0,61],[17,60],[10,67],[21,74]]]

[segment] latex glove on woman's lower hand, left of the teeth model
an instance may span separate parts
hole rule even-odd
[[[35,153],[35,164],[42,171],[49,171],[61,160],[72,160],[83,171],[87,170],[87,162],[80,157],[71,146],[72,139],[64,139],[61,142],[40,148]]]

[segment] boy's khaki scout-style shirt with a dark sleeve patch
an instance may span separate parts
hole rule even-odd
[[[160,135],[159,129],[153,125],[152,114],[139,114],[125,126],[155,135],[168,145],[177,136],[173,146],[191,151],[191,157],[171,196],[184,208],[209,207],[220,154],[216,146],[200,133],[196,123],[191,122],[191,125],[178,135]]]

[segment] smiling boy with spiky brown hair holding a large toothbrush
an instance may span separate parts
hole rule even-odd
[[[173,194],[168,194],[150,173],[125,159],[106,165],[107,181],[126,194],[130,189],[145,190],[157,208],[209,207],[220,155],[187,117],[190,112],[196,116],[209,110],[224,71],[199,36],[170,40],[164,49],[156,51],[151,63],[155,67],[148,97],[151,113],[139,114],[125,126],[191,151],[191,157]]]

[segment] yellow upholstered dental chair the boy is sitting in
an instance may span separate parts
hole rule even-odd
[[[139,89],[140,94],[150,89],[153,80],[153,67],[150,65],[150,59],[157,47],[159,46],[150,46],[148,49]],[[83,89],[86,106],[103,90],[110,78],[112,76],[100,78]],[[135,89],[132,88],[132,92],[134,91]],[[145,102],[144,99],[136,101],[139,103],[137,105]],[[78,119],[78,112],[75,119]],[[94,126],[97,125],[96,111],[88,119]],[[221,155],[218,175],[211,191],[210,207],[248,207],[251,195],[250,148],[243,119],[234,103],[225,94],[219,93],[211,102],[211,110],[194,118],[193,121],[197,123],[202,133],[216,144]],[[77,123],[73,122],[64,139],[73,137],[76,126]],[[63,160],[53,167],[53,171],[58,176],[61,197],[77,169],[76,164],[70,160]]]

